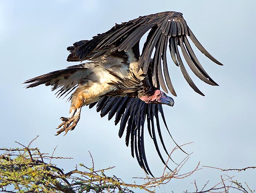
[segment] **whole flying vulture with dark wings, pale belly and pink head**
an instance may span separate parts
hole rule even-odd
[[[140,53],[139,42],[145,34],[147,39]],[[24,83],[29,84],[26,88],[41,84],[52,86],[58,97],[70,94],[69,117],[61,117],[62,123],[56,135],[63,132],[66,135],[76,127],[85,105],[89,108],[96,105],[96,111],[101,117],[108,115],[108,120],[115,116],[115,125],[120,123],[119,137],[126,133],[125,142],[126,146],[130,143],[132,157],[135,154],[139,166],[152,175],[145,155],[144,130],[148,130],[163,164],[166,161],[159,143],[167,155],[169,152],[163,142],[160,120],[172,138],[162,107],[163,104],[174,105],[173,98],[166,95],[168,91],[176,96],[167,65],[167,47],[174,64],[180,67],[195,92],[204,96],[189,76],[184,59],[198,78],[218,86],[198,61],[191,42],[210,60],[223,65],[200,44],[182,13],[167,11],[115,24],[109,31],[91,40],[75,42],[67,47],[70,52],[67,61],[80,64],[37,76]]]

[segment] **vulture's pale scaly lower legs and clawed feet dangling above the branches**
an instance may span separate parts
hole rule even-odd
[[[59,129],[61,127],[63,127],[63,128],[59,129],[59,131],[57,131],[56,135],[59,135],[63,131],[65,131],[64,135],[66,135],[69,130],[73,130],[76,127],[76,124],[78,123],[78,121],[80,119],[81,109],[82,109],[82,106],[78,107],[78,109],[72,109],[69,117],[61,117],[61,120],[63,122],[58,126],[57,129]]]

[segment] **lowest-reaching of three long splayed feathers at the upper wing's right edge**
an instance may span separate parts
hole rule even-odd
[[[175,38],[175,53],[176,53],[177,58],[178,58],[178,62],[179,62],[179,65],[180,65],[180,70],[181,70],[184,78],[186,79],[187,83],[189,84],[189,86],[191,86],[191,88],[193,88],[193,90],[195,92],[197,92],[198,94],[204,96],[204,94],[197,88],[197,86],[195,86],[194,82],[192,81],[192,79],[190,78],[190,76],[187,73],[187,70],[186,70],[186,68],[185,68],[185,66],[184,66],[184,64],[182,62],[182,59],[180,57],[180,53],[178,51],[178,47],[177,47],[178,41],[179,41],[179,39]]]

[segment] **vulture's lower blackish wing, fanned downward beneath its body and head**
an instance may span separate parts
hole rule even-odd
[[[161,135],[160,117],[158,117],[158,112],[160,112],[161,118],[165,124],[165,128],[167,129],[170,136],[171,134],[165,122],[165,117],[163,115],[163,108],[161,104],[147,104],[139,98],[103,97],[98,102],[90,104],[89,108],[92,108],[96,104],[96,110],[97,112],[101,111],[101,117],[104,117],[108,114],[108,120],[110,120],[115,115],[115,125],[120,122],[119,137],[122,137],[126,129],[125,142],[126,146],[128,146],[130,142],[132,157],[134,157],[135,153],[135,156],[141,168],[143,168],[146,173],[150,173],[150,175],[152,175],[147,163],[144,146],[144,124],[145,120],[147,120],[147,129],[149,135],[154,142],[156,151],[158,152],[161,161],[163,162],[163,164],[166,164],[165,160],[161,155],[157,142],[158,135],[161,141],[161,145],[165,150],[165,153],[169,156],[169,153],[164,145]],[[167,166],[167,168],[169,167]]]

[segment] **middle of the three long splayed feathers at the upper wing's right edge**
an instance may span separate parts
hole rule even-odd
[[[206,82],[207,84],[210,84],[210,85],[213,85],[213,86],[216,86],[213,82],[211,82],[210,80],[208,80],[207,78],[209,77],[206,77],[204,76],[200,69],[197,68],[197,66],[195,65],[195,63],[191,60],[191,58],[189,57],[186,49],[185,49],[185,46],[183,44],[183,41],[182,41],[182,37],[179,37],[179,42],[180,42],[180,48],[181,48],[181,51],[182,51],[182,54],[188,64],[188,66],[190,67],[190,69],[193,71],[193,73],[198,77],[200,78],[202,81]]]

